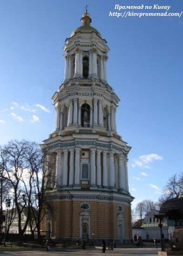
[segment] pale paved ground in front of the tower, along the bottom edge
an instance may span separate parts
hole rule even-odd
[[[108,256],[157,256],[158,251],[161,249],[156,249],[153,247],[143,246],[140,248],[130,247],[130,248],[116,248],[113,251],[106,250]],[[0,249],[0,256],[95,256],[103,255],[102,248],[96,247],[92,249],[75,249],[75,248],[65,248],[65,249],[51,249],[50,251],[45,251],[45,249],[27,249],[27,250],[11,250],[7,251]]]

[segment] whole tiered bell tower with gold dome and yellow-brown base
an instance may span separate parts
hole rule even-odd
[[[65,77],[52,97],[55,131],[43,145],[56,163],[47,192],[53,212],[43,229],[61,239],[127,243],[131,147],[116,131],[119,98],[107,82],[107,42],[90,26],[87,10],[81,23],[65,41]]]

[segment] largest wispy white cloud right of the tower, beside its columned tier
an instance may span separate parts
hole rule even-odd
[[[162,156],[159,156],[157,154],[149,154],[149,155],[142,155],[139,156],[138,159],[133,159],[132,167],[139,166],[141,168],[150,169],[149,163],[152,163],[156,160],[163,160]]]

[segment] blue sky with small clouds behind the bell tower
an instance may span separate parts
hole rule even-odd
[[[108,83],[121,99],[117,131],[132,147],[129,190],[136,203],[157,201],[169,177],[183,172],[183,0],[1,0],[0,144],[41,143],[54,131],[51,100],[64,78],[63,45],[88,4],[92,27],[108,42]],[[152,6],[145,9],[145,6]]]

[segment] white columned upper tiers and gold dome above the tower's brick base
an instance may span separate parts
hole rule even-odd
[[[90,24],[89,14],[81,21]],[[88,25],[66,39],[65,80],[52,98],[55,131],[44,141],[55,154],[55,188],[88,185],[129,194],[130,147],[116,131],[119,98],[107,83],[108,50],[100,33]]]

